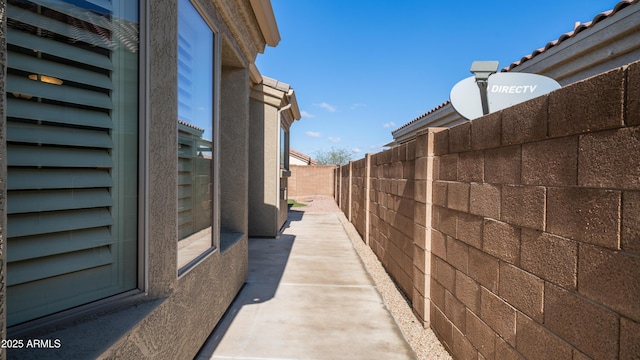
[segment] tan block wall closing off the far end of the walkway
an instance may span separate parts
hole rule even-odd
[[[334,196],[334,165],[290,165],[289,198],[305,195]]]

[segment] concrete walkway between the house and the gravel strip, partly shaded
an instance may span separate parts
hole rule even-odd
[[[247,283],[197,359],[415,359],[338,213],[249,239]]]

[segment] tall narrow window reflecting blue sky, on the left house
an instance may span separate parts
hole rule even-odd
[[[178,2],[178,268],[213,247],[214,34]]]

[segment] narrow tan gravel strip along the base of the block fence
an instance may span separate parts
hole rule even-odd
[[[360,255],[362,263],[369,275],[371,275],[378,292],[380,292],[402,334],[416,353],[417,359],[451,359],[451,355],[444,349],[433,330],[430,328],[425,329],[413,314],[407,299],[398,290],[371,248],[364,243],[353,224],[340,211],[333,198],[314,195],[299,197],[296,198],[296,201],[307,205],[294,208],[298,211],[338,213],[338,218],[347,235],[349,235],[353,247]]]

